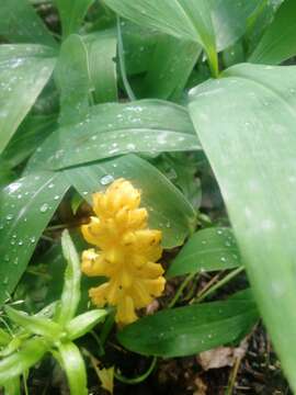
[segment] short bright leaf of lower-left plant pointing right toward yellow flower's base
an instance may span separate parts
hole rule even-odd
[[[105,309],[93,309],[80,314],[66,325],[66,331],[70,340],[75,340],[88,334],[92,328],[103,321],[107,315]]]

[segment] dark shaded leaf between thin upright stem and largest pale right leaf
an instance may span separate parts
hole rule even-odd
[[[178,100],[202,53],[193,42],[169,35],[159,37],[153,55],[148,60],[144,95]]]

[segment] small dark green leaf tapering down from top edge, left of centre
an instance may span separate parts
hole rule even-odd
[[[55,0],[61,20],[64,40],[77,33],[94,0]]]

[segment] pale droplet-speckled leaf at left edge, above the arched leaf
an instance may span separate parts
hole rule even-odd
[[[50,78],[53,49],[41,45],[0,46],[0,154]]]

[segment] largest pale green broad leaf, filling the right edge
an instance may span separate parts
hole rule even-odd
[[[190,112],[261,314],[296,390],[296,67],[239,65],[223,77],[192,91]]]

